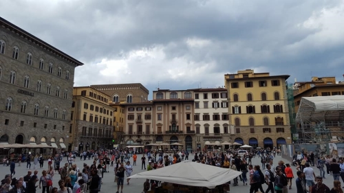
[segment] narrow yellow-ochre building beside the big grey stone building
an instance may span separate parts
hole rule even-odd
[[[115,108],[110,96],[92,87],[74,87],[69,150],[112,148]]]

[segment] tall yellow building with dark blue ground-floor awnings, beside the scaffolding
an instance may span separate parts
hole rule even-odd
[[[230,142],[273,148],[290,144],[286,80],[251,69],[225,74]]]

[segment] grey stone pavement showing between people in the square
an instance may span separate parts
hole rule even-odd
[[[136,174],[139,172],[144,172],[144,170],[141,170],[141,161],[140,158],[142,157],[142,155],[138,155],[138,161],[137,161],[137,166],[133,166],[133,172],[132,174]],[[189,156],[190,158],[193,158],[193,155]],[[275,166],[277,166],[277,162],[279,160],[283,160],[285,163],[290,163],[289,161],[286,161],[286,159],[282,159],[281,156],[277,156],[274,160],[274,164]],[[61,163],[61,166],[64,165],[64,163],[67,161],[66,157],[63,157],[63,161]],[[131,164],[133,163],[133,160],[131,158]],[[87,163],[87,165],[91,165],[92,164],[92,160],[88,160],[86,159],[85,161],[80,161],[80,158],[76,158],[75,160],[76,165],[79,168],[83,168],[83,163]],[[146,161],[147,163],[147,161]],[[259,158],[253,158],[252,159],[252,165],[259,165],[261,166],[260,163],[260,159]],[[147,166],[146,166],[147,167]],[[41,172],[43,171],[43,169],[47,168],[47,161],[45,161],[44,163],[44,168],[38,168],[36,170],[39,171],[38,177],[41,177]],[[295,178],[292,180],[292,190],[288,190],[288,192],[292,193],[292,192],[296,192],[296,185],[295,185],[295,180],[296,180],[296,172],[297,170],[295,169],[296,167],[292,166],[293,172],[294,172],[294,176]],[[314,172],[317,175],[320,174],[319,169],[313,167]],[[32,162],[32,167],[31,167],[32,173],[33,173],[33,162]],[[25,174],[28,173],[28,170],[26,169],[26,162],[25,163],[21,163],[21,166],[18,166],[18,163],[16,163],[16,174],[14,175],[14,177],[23,177],[25,176]],[[10,167],[9,166],[0,166],[0,178],[3,179],[3,177],[5,177],[6,174],[10,174]],[[333,177],[331,176],[327,176],[327,174],[325,174],[326,179],[323,179],[323,183],[325,183],[330,189],[333,188]],[[248,175],[247,175],[248,176]],[[116,192],[117,191],[117,185],[114,183],[114,167],[110,167],[109,172],[108,173],[104,173],[104,178],[103,178],[103,184],[102,184],[102,188],[100,192]],[[59,174],[55,174],[54,178],[53,178],[53,186],[57,187],[58,186],[58,180],[60,179],[60,175]],[[126,178],[125,178],[125,185],[123,188],[123,192],[129,192],[129,193],[133,193],[133,192],[142,192],[143,190],[143,183],[144,183],[144,179],[131,179],[130,180],[130,184],[127,185],[126,183]],[[38,185],[38,184],[37,184]],[[264,184],[263,185],[263,189],[264,191],[267,189],[267,185]],[[250,185],[242,185],[241,181],[239,181],[239,185],[234,186],[233,187],[233,182],[232,185],[230,186],[230,192],[249,192],[250,189]],[[39,188],[37,188],[37,193],[41,192],[41,190],[39,190]]]

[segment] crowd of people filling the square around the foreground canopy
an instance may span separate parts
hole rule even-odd
[[[10,166],[10,174],[6,174],[5,179],[1,181],[0,193],[36,193],[37,188],[42,193],[83,193],[87,190],[90,193],[96,193],[101,190],[104,173],[109,172],[109,168],[112,166],[114,166],[114,182],[117,184],[117,193],[119,193],[123,191],[125,177],[127,177],[127,185],[130,184],[128,177],[131,176],[133,166],[136,166],[138,159],[141,160],[141,170],[158,170],[189,159],[200,164],[237,170],[241,172],[241,175],[228,183],[233,186],[240,185],[239,182],[241,185],[250,185],[250,193],[286,193],[292,189],[293,182],[296,183],[297,193],[343,193],[339,177],[344,180],[344,159],[336,160],[329,156],[313,157],[312,152],[309,154],[298,152],[291,164],[278,161],[275,165],[274,159],[278,155],[280,155],[280,150],[275,148],[272,150],[269,148],[250,150],[244,154],[241,154],[239,150],[204,150],[191,155],[186,150],[175,150],[167,153],[164,150],[146,149],[142,155],[138,154],[137,150],[129,150],[128,148],[96,152],[85,151],[80,152],[78,156],[80,160],[93,159],[92,165],[88,166],[84,163],[80,169],[74,163],[74,159],[78,158],[74,157],[72,153],[69,153],[67,157],[56,154],[54,157],[47,158],[47,166],[45,166],[47,170],[43,170],[40,177],[36,168],[43,168],[43,157],[25,155],[23,157],[26,157],[28,174],[19,179],[12,178],[15,174],[15,160],[6,162]],[[252,166],[252,158],[254,157],[258,157],[261,164]],[[30,170],[32,160],[34,161],[33,172]],[[60,167],[62,161],[65,164]],[[18,166],[21,166],[21,163],[17,162]],[[316,176],[312,166],[319,168],[318,176]],[[296,175],[292,172],[292,167],[296,167]],[[332,175],[334,179],[332,189],[323,183],[325,168],[327,176]],[[52,184],[52,179],[56,175],[60,177],[58,187],[54,187]],[[155,180],[145,181],[143,192],[154,190],[160,183],[160,181]],[[264,186],[266,186],[265,190]]]

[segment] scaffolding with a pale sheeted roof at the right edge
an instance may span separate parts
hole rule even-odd
[[[344,95],[301,98],[296,124],[296,143],[343,141]]]

